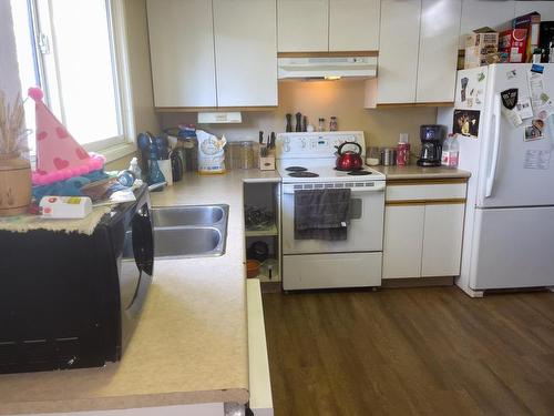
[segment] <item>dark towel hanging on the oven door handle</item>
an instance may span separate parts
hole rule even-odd
[[[350,190],[295,191],[295,240],[347,240]]]

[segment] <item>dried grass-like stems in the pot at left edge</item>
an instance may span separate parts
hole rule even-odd
[[[21,95],[18,94],[13,105],[10,105],[6,93],[0,91],[0,155],[18,158],[28,150],[24,118]]]

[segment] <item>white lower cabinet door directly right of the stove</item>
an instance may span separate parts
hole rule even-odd
[[[383,278],[419,277],[424,205],[388,205],[384,210]]]

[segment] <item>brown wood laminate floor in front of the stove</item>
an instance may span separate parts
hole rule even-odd
[[[554,415],[554,294],[264,294],[276,416]]]

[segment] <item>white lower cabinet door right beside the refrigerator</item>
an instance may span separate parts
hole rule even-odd
[[[425,206],[421,275],[458,276],[465,204]]]

